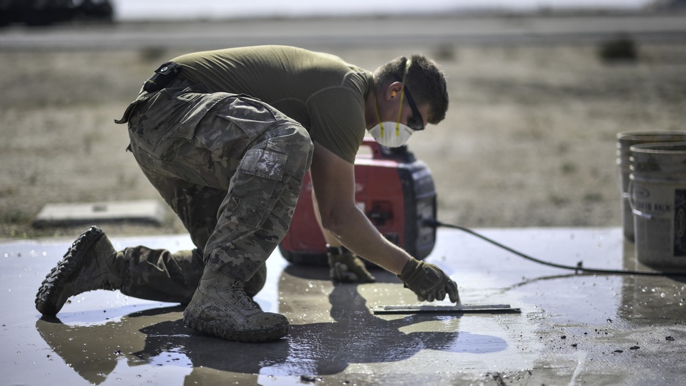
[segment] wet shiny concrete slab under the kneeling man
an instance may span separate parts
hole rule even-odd
[[[555,263],[646,269],[620,228],[480,232]],[[183,235],[110,238],[115,248],[191,248]],[[186,328],[178,304],[118,291],[84,293],[41,318],[36,289],[71,241],[0,243],[1,385],[679,385],[686,374],[686,277],[575,274],[441,229],[427,261],[456,279],[462,302],[521,313],[374,315],[419,303],[391,274],[333,285],[324,267],[274,252],[256,300],[287,316],[289,335],[236,343]]]

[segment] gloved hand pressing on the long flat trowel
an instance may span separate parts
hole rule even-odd
[[[405,284],[405,288],[416,293],[420,302],[443,300],[446,293],[451,302],[460,302],[458,285],[436,265],[412,258],[405,264],[398,278]]]

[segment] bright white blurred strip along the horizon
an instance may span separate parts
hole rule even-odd
[[[254,17],[383,16],[469,12],[637,11],[652,0],[110,0],[116,21],[212,20]]]

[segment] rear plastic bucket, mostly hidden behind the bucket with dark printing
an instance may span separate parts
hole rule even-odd
[[[620,132],[617,134],[617,169],[621,176],[619,190],[622,193],[622,228],[624,237],[634,241],[634,218],[629,205],[630,147],[641,143],[686,142],[686,131],[681,130],[644,130]]]

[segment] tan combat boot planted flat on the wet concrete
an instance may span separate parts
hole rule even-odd
[[[288,320],[263,312],[244,290],[244,282],[205,267],[193,299],[183,313],[186,326],[230,341],[271,341],[288,333]]]

